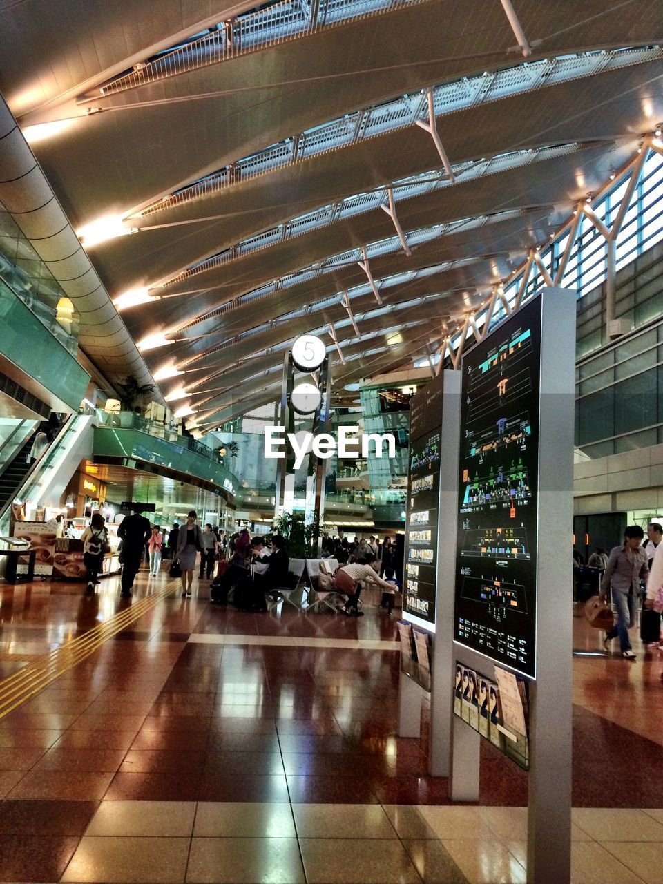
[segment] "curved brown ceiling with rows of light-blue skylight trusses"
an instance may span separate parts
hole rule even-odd
[[[0,2],[0,89],[173,407],[275,400],[303,331],[339,389],[420,358],[633,156],[663,4],[513,5],[527,60],[500,0]]]

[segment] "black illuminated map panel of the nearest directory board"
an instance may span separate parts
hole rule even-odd
[[[532,678],[540,357],[540,298],[463,357],[454,606],[457,642]]]

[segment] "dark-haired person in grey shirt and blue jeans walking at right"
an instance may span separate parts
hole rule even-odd
[[[639,525],[629,525],[624,530],[624,542],[610,552],[606,573],[601,581],[601,593],[612,591],[614,606],[617,608],[617,623],[606,632],[604,647],[610,650],[610,642],[619,636],[621,656],[635,660],[631,648],[629,629],[636,621],[636,600],[640,593],[640,581],[647,580],[649,568],[647,553],[641,546],[644,530]]]

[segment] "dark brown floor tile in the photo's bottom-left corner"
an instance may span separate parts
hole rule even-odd
[[[4,835],[0,838],[0,880],[60,880],[78,843],[78,838],[55,835]]]

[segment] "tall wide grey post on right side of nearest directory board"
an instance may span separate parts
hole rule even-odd
[[[563,884],[571,868],[575,292],[543,293],[537,545],[537,682],[530,685],[527,880]]]

